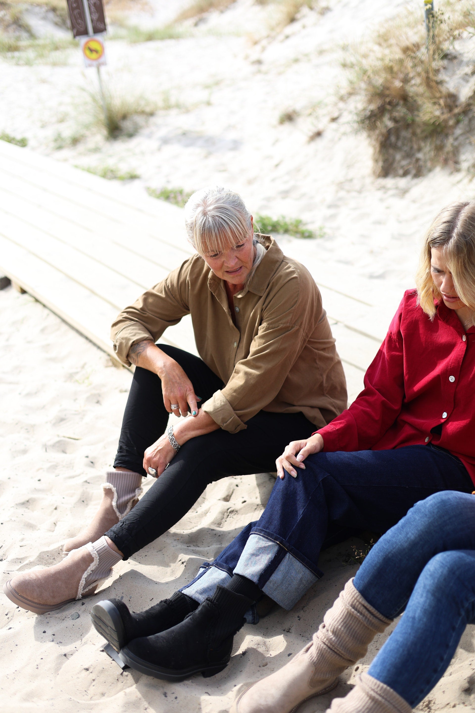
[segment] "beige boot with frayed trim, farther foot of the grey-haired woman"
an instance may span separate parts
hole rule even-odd
[[[75,537],[66,540],[63,555],[66,556],[101,535],[128,515],[142,494],[142,476],[133,471],[107,471],[103,483],[103,500],[91,523]]]

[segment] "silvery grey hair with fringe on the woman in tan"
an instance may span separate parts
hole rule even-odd
[[[184,222],[189,242],[201,255],[229,250],[253,235],[244,200],[221,186],[193,193],[184,207]]]

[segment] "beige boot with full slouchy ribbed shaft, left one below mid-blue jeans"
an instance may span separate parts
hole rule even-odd
[[[281,670],[241,692],[230,713],[293,713],[309,698],[335,688],[340,673],[365,656],[375,635],[390,623],[350,580],[313,641]]]

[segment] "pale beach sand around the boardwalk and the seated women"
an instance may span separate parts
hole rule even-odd
[[[355,130],[352,101],[342,96],[345,43],[406,4],[329,0],[329,11],[304,10],[282,34],[256,42],[266,34],[268,6],[239,0],[184,39],[110,41],[105,77],[164,107],[133,138],[113,142],[88,128],[81,88],[94,76],[81,66],[78,50],[56,56],[56,64],[0,59],[0,131],[25,135],[33,150],[73,165],[134,170],[140,178],[127,187],[130,195],[147,186],[194,190],[224,183],[239,190],[253,212],[323,226],[320,240],[280,242],[293,257],[320,261],[342,284],[351,282],[362,299],[387,303],[390,313],[414,284],[419,242],[434,213],[473,193],[471,175],[443,169],[415,180],[373,178],[370,145]],[[172,16],[169,4],[154,8],[155,15],[138,13],[137,21],[146,26]],[[288,110],[296,110],[296,120],[279,123]],[[315,132],[321,133],[309,140]],[[0,314],[5,581],[16,571],[58,562],[63,540],[93,515],[115,455],[131,374],[26,294],[0,292]],[[100,595],[123,596],[135,610],[170,595],[259,517],[272,485],[261,473],[209,486],[160,541],[120,563]],[[241,684],[284,665],[318,627],[356,571],[343,564],[352,543],[363,546],[353,540],[324,553],[325,578],[292,612],[275,610],[236,635],[224,672],[180,684],[121,672],[91,627],[94,600],[38,617],[0,597],[2,709],[226,711]],[[418,710],[475,708],[473,632],[467,628],[449,670]],[[357,672],[386,636],[377,637]],[[302,713],[325,711],[354,675],[348,670],[330,696],[306,704]]]

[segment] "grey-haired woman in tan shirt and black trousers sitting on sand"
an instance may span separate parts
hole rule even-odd
[[[346,406],[308,270],[271,237],[254,235],[251,214],[229,190],[194,193],[185,220],[197,255],[113,324],[116,354],[136,369],[99,511],[66,543],[63,563],[5,585],[33,612],[93,594],[112,565],[177,523],[209,483],[272,471],[289,438],[310,436]],[[190,313],[201,359],[155,344]],[[167,428],[171,412],[184,418]],[[157,481],[130,512],[147,473]]]

